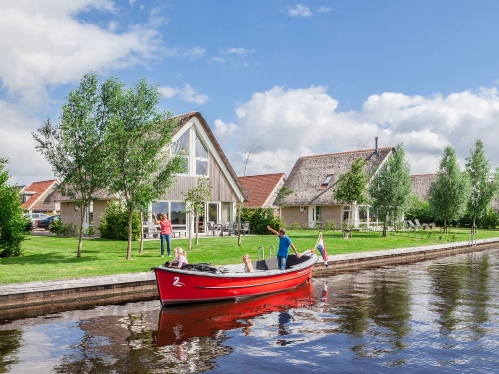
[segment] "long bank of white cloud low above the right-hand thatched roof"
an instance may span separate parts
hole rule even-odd
[[[456,148],[464,165],[480,138],[487,157],[499,166],[496,88],[447,97],[386,92],[368,97],[359,111],[338,112],[337,107],[338,101],[323,86],[287,90],[275,86],[256,92],[236,108],[239,143],[234,145],[231,136],[224,148],[238,150],[230,152],[231,163],[241,165],[248,139],[262,136],[252,155],[252,174],[289,173],[300,156],[357,150],[362,141],[372,139],[367,147],[371,148],[378,137],[379,147],[404,143],[413,173],[434,173],[445,146]]]

